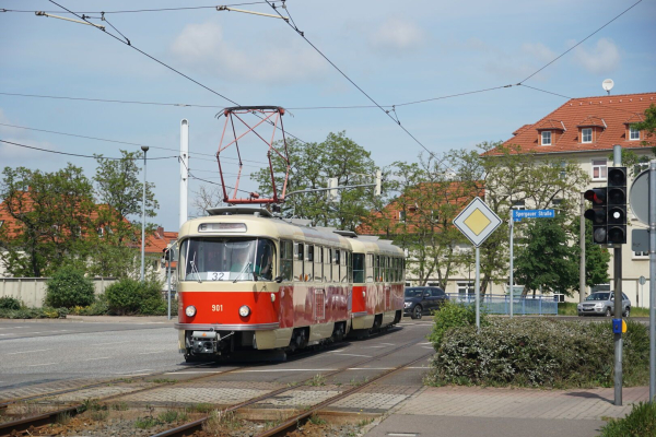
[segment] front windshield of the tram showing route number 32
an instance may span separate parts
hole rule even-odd
[[[180,258],[183,281],[273,280],[276,246],[263,238],[188,238]]]

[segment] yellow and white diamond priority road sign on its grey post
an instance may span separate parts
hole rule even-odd
[[[501,218],[481,200],[473,199],[456,218],[454,225],[476,247],[476,328],[481,327],[481,279],[480,279],[480,246],[501,225]]]

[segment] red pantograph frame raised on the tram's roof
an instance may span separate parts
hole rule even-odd
[[[251,127],[246,121],[244,121],[243,117],[239,117],[241,115],[244,115],[244,114],[254,114],[254,115],[259,114],[260,120]],[[223,201],[225,203],[231,203],[231,204],[283,203],[284,196],[286,192],[288,179],[290,176],[290,158],[289,158],[289,154],[288,154],[284,128],[282,125],[282,116],[284,115],[284,108],[281,108],[279,106],[235,106],[232,108],[223,109],[223,115],[225,116],[225,123],[223,125],[223,132],[221,133],[221,142],[219,143],[219,151],[216,152],[216,164],[219,164],[219,174],[221,176],[221,186],[223,188]],[[237,137],[237,133],[235,130],[234,118],[239,120],[247,128],[247,130],[244,133],[239,134],[238,137]],[[273,118],[273,121],[270,120],[271,118]],[[267,122],[267,121],[269,123],[271,123],[272,128],[273,128],[273,132],[271,133],[271,141],[265,140],[259,133],[257,133],[255,131],[255,128],[257,128],[258,126],[260,126],[261,123]],[[229,143],[226,143],[225,145],[223,145],[223,140],[225,139],[225,131],[227,129],[229,122],[232,127],[234,139],[232,141],[230,141]],[[277,147],[273,146],[273,139],[276,138],[276,130],[278,129],[279,123],[280,123],[280,130],[282,132],[282,143],[284,145],[284,155]],[[267,157],[269,158],[269,172],[271,174],[271,188],[273,191],[272,198],[268,198],[268,199],[260,198],[260,196],[257,192],[251,192],[248,198],[237,198],[237,191],[239,189],[239,179],[242,177],[242,166],[243,166],[242,153],[239,152],[238,140],[242,139],[244,135],[246,135],[248,132],[255,133],[260,140],[262,140],[269,146],[269,150],[267,151]],[[223,177],[223,169],[221,167],[221,152],[223,152],[225,149],[230,147],[233,144],[235,145],[235,147],[237,150],[237,157],[239,160],[239,170],[237,173],[237,180],[235,181],[233,197],[230,198],[227,194],[226,186],[225,186],[225,179]],[[286,169],[285,169],[285,174],[284,174],[284,184],[282,186],[282,193],[280,196],[278,196],[278,189],[276,188],[276,176],[273,175],[273,164],[271,163],[271,151],[276,152],[278,154],[278,156],[280,156],[282,160],[284,160],[284,162],[286,164]]]

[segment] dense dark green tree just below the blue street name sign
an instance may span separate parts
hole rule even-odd
[[[525,285],[523,295],[536,290],[570,295],[578,282],[579,250],[569,244],[573,236],[564,214],[528,221],[524,245],[515,258],[515,276]]]

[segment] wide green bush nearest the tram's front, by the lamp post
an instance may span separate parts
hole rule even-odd
[[[105,291],[109,312],[122,315],[166,314],[166,302],[162,298],[162,284],[156,281],[141,283],[122,279]]]

